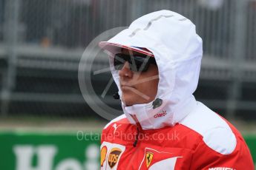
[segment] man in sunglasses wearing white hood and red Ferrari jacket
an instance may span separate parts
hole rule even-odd
[[[149,13],[99,46],[124,112],[102,131],[101,169],[254,169],[237,129],[194,98],[203,47],[188,18]]]

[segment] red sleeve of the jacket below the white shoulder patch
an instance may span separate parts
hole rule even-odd
[[[220,154],[202,140],[194,151],[190,169],[254,170],[252,156],[243,137],[236,138],[237,145],[231,154]]]

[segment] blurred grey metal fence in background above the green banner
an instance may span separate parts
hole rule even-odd
[[[163,9],[190,18],[203,38],[197,100],[255,118],[256,1],[249,0],[1,0],[1,115],[87,115],[77,81],[85,47],[105,30]]]

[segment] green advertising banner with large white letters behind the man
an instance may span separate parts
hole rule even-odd
[[[256,162],[256,136],[244,136]],[[1,170],[98,170],[99,133],[0,132]]]

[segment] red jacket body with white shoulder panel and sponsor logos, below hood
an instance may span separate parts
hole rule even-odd
[[[101,169],[253,170],[254,165],[237,129],[208,111],[148,130],[119,116],[103,129]]]

